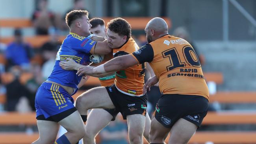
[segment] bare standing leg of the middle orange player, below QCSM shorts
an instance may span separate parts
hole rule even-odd
[[[127,116],[130,144],[143,144],[143,132],[145,128],[145,116],[132,114]]]

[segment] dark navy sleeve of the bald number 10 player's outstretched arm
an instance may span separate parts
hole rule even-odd
[[[154,58],[154,51],[150,44],[145,44],[139,48],[139,50],[133,52],[132,56],[137,59],[139,63],[150,63]]]

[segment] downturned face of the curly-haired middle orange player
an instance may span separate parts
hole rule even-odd
[[[126,42],[127,36],[120,36],[118,33],[115,33],[108,29],[107,31],[107,40],[108,40],[108,46],[110,48],[119,48]]]

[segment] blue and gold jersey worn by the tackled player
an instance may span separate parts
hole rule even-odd
[[[63,70],[59,66],[60,61],[72,58],[76,63],[82,65],[89,64],[89,52],[95,46],[96,42],[87,38],[80,37],[75,33],[70,33],[63,41],[56,55],[56,61],[52,74],[46,81],[53,81],[61,85],[78,88],[77,85],[81,81],[82,76],[76,75],[76,70]]]

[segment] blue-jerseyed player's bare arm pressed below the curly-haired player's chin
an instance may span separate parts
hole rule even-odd
[[[108,47],[107,40],[105,41],[98,41],[93,48],[90,50],[91,54],[109,54],[112,52],[112,49]]]

